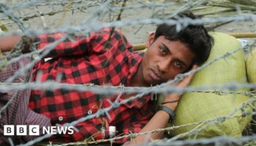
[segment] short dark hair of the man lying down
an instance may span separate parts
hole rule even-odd
[[[197,19],[192,12],[180,12],[172,20],[178,18]],[[176,31],[176,25],[161,24],[157,26],[157,31],[154,40],[158,37],[164,36],[165,39],[170,41],[181,41],[189,47],[192,53],[195,54],[194,64],[203,64],[210,55],[211,47],[214,44],[214,39],[208,34],[208,31],[203,25],[188,25],[181,28],[181,31]]]

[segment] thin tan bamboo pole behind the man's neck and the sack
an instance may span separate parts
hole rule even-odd
[[[236,38],[252,38],[256,37],[256,32],[241,32],[241,33],[228,33],[230,36],[236,37]],[[133,45],[134,50],[143,50],[145,49],[145,44],[137,44]]]

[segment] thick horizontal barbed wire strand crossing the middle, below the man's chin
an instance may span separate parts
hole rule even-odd
[[[185,77],[185,76],[183,76]],[[49,85],[51,85],[49,87]],[[124,85],[119,86],[99,86],[93,84],[86,85],[74,85],[59,82],[25,82],[25,83],[6,83],[0,82],[0,91],[20,91],[24,89],[32,90],[48,90],[55,91],[57,89],[66,89],[69,91],[91,91],[97,94],[107,94],[115,95],[117,93],[188,93],[188,92],[201,92],[201,93],[216,93],[222,94],[240,94],[245,96],[252,96],[254,94],[250,92],[236,92],[238,89],[252,89],[256,88],[255,83],[226,83],[223,85],[200,85],[197,87],[187,87],[187,88],[177,88],[175,86],[164,86],[157,85],[152,87],[124,87]],[[224,90],[227,91],[224,91]],[[211,90],[211,91],[209,91]]]

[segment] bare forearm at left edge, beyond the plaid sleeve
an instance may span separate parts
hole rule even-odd
[[[7,52],[12,50],[12,47],[20,42],[20,36],[6,36],[0,37],[0,50],[1,52]]]

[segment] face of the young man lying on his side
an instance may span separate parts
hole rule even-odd
[[[192,66],[194,53],[180,41],[170,41],[164,36],[154,40],[154,34],[146,42],[148,50],[141,63],[143,80],[148,85],[157,85],[173,79]]]

